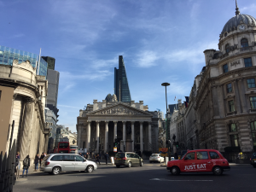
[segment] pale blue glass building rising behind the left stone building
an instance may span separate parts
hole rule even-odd
[[[39,61],[39,55],[26,52],[24,50],[13,49],[0,45],[0,64],[9,65],[13,64],[14,60],[18,60],[19,63],[26,60],[30,61],[32,67],[36,67],[37,61]],[[47,77],[47,62],[40,58],[40,66],[37,67],[37,74]],[[38,73],[39,70],[39,73]]]

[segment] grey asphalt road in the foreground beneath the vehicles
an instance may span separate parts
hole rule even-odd
[[[53,176],[35,172],[27,181],[16,183],[15,192],[30,191],[255,191],[256,169],[250,165],[231,165],[222,176],[212,173],[183,173],[172,176],[160,164],[145,163],[143,167],[98,166],[96,172],[62,172]]]

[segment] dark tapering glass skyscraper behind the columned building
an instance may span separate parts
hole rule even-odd
[[[119,55],[119,69],[114,67],[114,94],[119,102],[131,102],[131,93],[122,55]]]

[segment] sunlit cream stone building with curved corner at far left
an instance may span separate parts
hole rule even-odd
[[[37,75],[30,61],[0,64],[0,146],[3,152],[9,151],[11,138],[12,142],[16,140],[20,160],[29,154],[33,162],[36,154],[47,150],[49,128],[44,123],[47,86],[45,76]]]

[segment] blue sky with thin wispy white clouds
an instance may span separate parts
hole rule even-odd
[[[255,0],[238,0],[256,17]],[[113,68],[123,55],[131,99],[166,111],[189,96],[205,66],[205,49],[218,49],[235,0],[0,0],[0,44],[55,57],[61,73],[59,125],[76,131],[79,109],[113,94]]]

